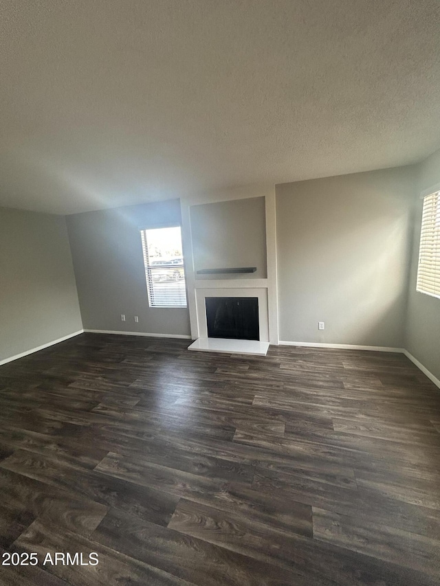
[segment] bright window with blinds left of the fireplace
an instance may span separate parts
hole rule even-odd
[[[186,307],[180,227],[142,230],[150,307]]]

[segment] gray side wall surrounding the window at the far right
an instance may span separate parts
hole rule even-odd
[[[440,379],[440,299],[417,293],[415,290],[423,208],[423,200],[420,199],[419,194],[438,183],[440,183],[440,150],[421,164],[418,188],[414,198],[415,232],[412,245],[405,348],[437,379]]]

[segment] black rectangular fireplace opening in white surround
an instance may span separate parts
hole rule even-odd
[[[205,297],[209,338],[259,340],[258,297]]]

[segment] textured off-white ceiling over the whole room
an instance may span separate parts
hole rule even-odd
[[[0,205],[74,213],[440,146],[438,0],[2,0]]]

